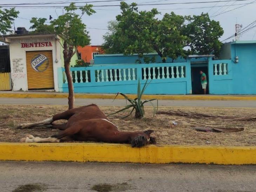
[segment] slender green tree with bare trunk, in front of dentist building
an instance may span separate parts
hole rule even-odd
[[[60,15],[57,19],[50,22],[49,28],[53,28],[56,35],[60,35],[63,39],[60,42],[63,47],[64,67],[68,81],[68,108],[74,108],[74,87],[72,75],[70,74],[70,60],[77,51],[78,46],[86,46],[90,43],[89,32],[86,30],[86,25],[82,22],[81,17],[84,14],[92,15],[95,11],[92,9],[93,5],[86,4],[84,7],[76,7],[75,3],[70,3],[65,7],[66,13]],[[81,14],[77,12],[80,10]],[[35,31],[40,31],[46,19],[39,18],[31,20],[32,28]]]

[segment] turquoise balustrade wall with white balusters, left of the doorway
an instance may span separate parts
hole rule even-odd
[[[182,77],[181,68],[179,70],[179,78],[177,76],[171,76],[171,69],[176,67],[183,67],[184,68],[184,76]],[[158,77],[155,73],[155,79],[151,81],[149,86],[147,87],[145,94],[190,94],[191,93],[191,69],[190,69],[190,61],[187,62],[179,62],[179,63],[165,63],[165,64],[117,64],[117,65],[94,65],[91,67],[72,67],[70,68],[73,72],[73,81],[74,81],[74,91],[75,93],[113,93],[116,94],[118,92],[125,93],[125,94],[136,94],[137,93],[137,83],[140,79],[141,86],[146,82],[148,78],[144,76],[144,70],[150,67],[151,71],[154,67],[155,71],[160,70],[161,68],[161,75]],[[159,68],[158,68],[159,67]],[[169,69],[169,77],[167,78],[167,67]],[[145,69],[144,69],[145,68]],[[115,69],[122,70],[130,69],[130,80],[128,80],[128,76],[126,80],[116,81],[112,78],[112,81],[106,79],[107,82],[103,82],[102,80],[97,79],[97,74],[102,74],[101,70],[105,70],[103,72],[106,75],[107,70],[111,70],[112,72]],[[135,74],[133,75],[133,69]],[[79,82],[80,80],[80,72],[82,71],[83,76],[85,76],[85,71],[89,71],[88,73],[88,81],[87,82]],[[176,71],[176,70],[175,70]],[[59,77],[59,88],[63,92],[68,92],[67,83],[63,82],[63,73],[64,68],[59,68],[58,71]],[[109,73],[109,71],[108,71]],[[128,72],[126,72],[128,74]],[[147,73],[145,73],[147,74]],[[113,74],[113,77],[115,74]],[[153,75],[152,75],[153,76]],[[152,78],[152,76],[150,78]],[[173,78],[171,78],[173,77]],[[99,75],[101,79],[102,76]],[[65,78],[64,78],[65,79]],[[83,77],[85,79],[85,77]],[[101,82],[102,81],[102,82]],[[105,81],[105,79],[104,79]],[[150,81],[150,80],[149,80]],[[148,81],[148,82],[149,82]]]

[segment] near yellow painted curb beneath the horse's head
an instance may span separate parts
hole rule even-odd
[[[242,165],[256,164],[256,147],[0,142],[0,160]]]

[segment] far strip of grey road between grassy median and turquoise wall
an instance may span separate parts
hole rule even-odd
[[[122,106],[124,99],[76,99],[76,105],[88,105],[95,103],[101,106]],[[45,104],[67,105],[64,98],[0,98],[0,104]],[[150,104],[148,104],[150,105]],[[159,106],[200,106],[200,107],[249,107],[256,108],[256,101],[177,101],[159,100]]]

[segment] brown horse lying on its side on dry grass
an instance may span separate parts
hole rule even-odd
[[[57,125],[53,121],[66,119],[67,123]],[[54,115],[52,118],[37,123],[25,123],[17,128],[47,126],[63,130],[61,133],[48,138],[26,135],[21,142],[63,142],[63,141],[95,141],[109,143],[130,143],[132,147],[154,144],[150,136],[153,130],[121,132],[117,126],[108,120],[106,115],[95,104],[67,110]]]

